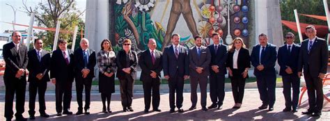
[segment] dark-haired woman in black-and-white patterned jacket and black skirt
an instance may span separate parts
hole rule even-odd
[[[101,92],[103,113],[111,113],[111,93],[115,92],[116,54],[112,51],[111,42],[104,39],[101,50],[97,53],[97,66],[99,67],[99,92]],[[106,110],[105,101],[108,108]]]

